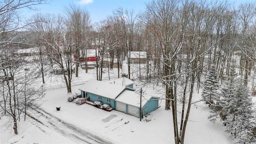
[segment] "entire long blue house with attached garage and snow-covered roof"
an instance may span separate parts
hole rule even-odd
[[[129,87],[102,81],[88,81],[81,87],[82,98],[100,101],[115,110],[139,117],[140,95]],[[142,116],[158,108],[158,97],[143,95]]]

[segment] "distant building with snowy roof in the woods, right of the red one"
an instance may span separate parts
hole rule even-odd
[[[129,55],[129,53],[128,53],[128,55]],[[131,51],[130,60],[131,60],[131,63],[146,63],[147,62],[147,52]]]

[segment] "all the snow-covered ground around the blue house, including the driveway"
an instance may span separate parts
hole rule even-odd
[[[116,78],[117,69],[111,71],[111,78]],[[29,112],[27,121],[18,125],[18,135],[13,134],[9,118],[0,120],[0,143],[173,143],[172,111],[165,110],[162,100],[157,110],[147,118],[126,115],[119,111],[104,111],[84,104],[78,106],[67,101],[65,84],[59,81],[61,76],[48,78],[46,95],[41,108]],[[107,71],[103,79],[108,79]],[[54,79],[55,78],[55,79]],[[79,77],[73,79],[73,93],[79,93],[84,81],[95,79],[95,70],[80,71]],[[141,87],[135,82],[135,89]],[[156,94],[163,97],[164,89],[148,85],[143,88],[145,94]],[[201,94],[194,94],[193,101],[201,99]],[[56,111],[55,107],[61,107]],[[181,106],[179,106],[180,108]],[[181,111],[181,110],[180,110]],[[221,122],[211,123],[207,116],[209,109],[203,102],[191,107],[186,131],[185,143],[234,143],[228,139],[225,127]],[[32,118],[31,118],[32,117]],[[33,119],[34,118],[34,119]],[[11,120],[10,120],[11,121]]]

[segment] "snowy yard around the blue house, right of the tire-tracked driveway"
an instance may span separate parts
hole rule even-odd
[[[78,92],[78,87],[74,86],[73,91]],[[150,92],[164,92],[161,88],[151,89]],[[67,102],[67,98],[65,89],[47,91],[42,108],[63,121],[72,122],[83,130],[97,133],[116,143],[173,143],[172,111],[164,109],[164,101],[160,103],[160,108],[151,113],[150,122],[145,119],[140,122],[139,118],[119,111],[108,112],[87,104],[77,106]],[[201,93],[195,94],[195,99],[199,98]],[[57,112],[55,107],[61,107],[61,111]],[[109,122],[103,121],[111,115],[114,117]],[[221,122],[211,123],[207,119],[208,115],[209,109],[203,102],[191,107],[185,143],[232,143]]]

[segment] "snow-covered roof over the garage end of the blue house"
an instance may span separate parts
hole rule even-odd
[[[151,98],[152,97],[149,95],[143,95],[141,99],[141,107],[143,107]],[[123,102],[135,107],[140,107],[140,94],[134,91],[125,90],[116,98],[116,101]]]

